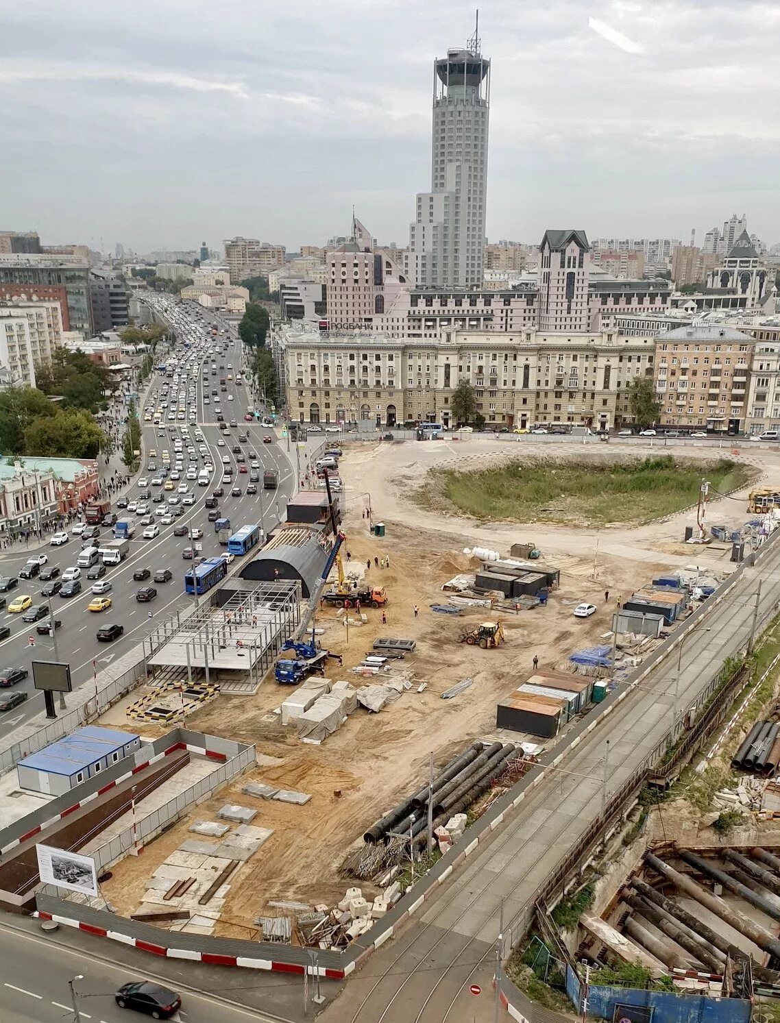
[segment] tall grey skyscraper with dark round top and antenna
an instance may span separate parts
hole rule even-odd
[[[418,193],[405,259],[418,287],[482,284],[489,108],[490,61],[475,30],[433,64],[431,191]]]

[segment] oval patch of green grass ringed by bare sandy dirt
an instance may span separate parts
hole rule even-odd
[[[476,473],[433,470],[418,500],[481,520],[638,524],[695,503],[702,478],[711,490],[725,493],[754,475],[751,466],[728,458],[513,461]]]

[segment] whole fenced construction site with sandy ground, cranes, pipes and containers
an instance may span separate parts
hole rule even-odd
[[[146,739],[185,721],[256,752],[113,863],[116,911],[345,947],[738,564],[726,533],[686,542],[696,508],[530,533],[422,511],[410,493],[434,452],[347,450],[346,501],[306,495],[308,533],[292,518],[295,535],[272,536],[156,655],[145,692],[101,717]],[[739,532],[746,507],[720,501],[724,528]],[[747,549],[770,531],[753,527]]]

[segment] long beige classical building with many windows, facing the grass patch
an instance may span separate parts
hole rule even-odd
[[[436,340],[281,330],[272,340],[290,418],[456,426],[452,395],[475,389],[488,428],[629,421],[627,388],[652,376],[655,343],[616,331],[518,335],[444,328]]]

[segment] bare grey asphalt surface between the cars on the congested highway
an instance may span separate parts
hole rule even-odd
[[[216,320],[220,324],[222,323],[221,319],[212,313],[208,314],[208,318],[209,322]],[[197,326],[199,330],[202,330],[200,324],[197,325],[194,321],[191,322],[193,329]],[[283,444],[287,448],[288,442],[277,439],[276,434],[270,428],[263,427],[257,422],[249,424],[244,421],[244,414],[247,408],[252,405],[250,388],[247,384],[236,386],[234,383],[227,382],[227,390],[225,392],[219,391],[220,376],[225,376],[226,379],[229,372],[232,372],[234,376],[241,366],[243,355],[243,345],[234,337],[234,326],[225,324],[225,327],[226,329],[230,329],[231,333],[220,333],[218,339],[214,340],[223,341],[223,339],[230,337],[230,347],[227,352],[220,352],[213,359],[209,357],[209,383],[203,383],[202,363],[204,356],[201,355],[200,359],[196,362],[199,367],[197,376],[187,374],[187,383],[184,385],[184,390],[187,390],[190,380],[196,383],[197,391],[193,407],[197,424],[182,422],[178,419],[170,421],[167,418],[168,409],[162,409],[165,415],[163,419],[165,429],[163,429],[163,426],[156,428],[154,422],[143,421],[143,406],[148,405],[154,409],[163,400],[162,385],[165,382],[165,374],[155,373],[150,382],[151,389],[158,388],[161,393],[158,395],[158,398],[153,398],[151,391],[149,391],[148,399],[145,402],[142,401],[139,410],[141,426],[143,428],[143,451],[145,457],[136,481],[124,496],[131,501],[137,499],[139,490],[137,479],[145,477],[150,481],[151,477],[156,475],[154,472],[147,471],[147,465],[151,460],[148,456],[150,450],[157,450],[157,458],[154,460],[158,465],[161,464],[161,454],[164,449],[171,452],[172,459],[175,461],[173,441],[174,438],[181,437],[180,428],[182,426],[187,426],[189,436],[192,439],[194,439],[196,429],[201,429],[203,432],[204,443],[208,446],[208,457],[210,457],[214,466],[210,485],[208,487],[200,487],[197,481],[184,481],[188,485],[188,492],[194,495],[196,503],[185,507],[184,510],[186,514],[176,520],[174,525],[160,525],[160,535],[154,539],[144,540],[141,535],[143,527],[137,526],[135,535],[130,541],[130,553],[127,559],[120,566],[110,569],[103,576],[103,579],[112,584],[111,591],[105,594],[112,598],[112,608],[100,613],[89,612],[87,610],[87,606],[92,599],[93,594],[90,589],[91,582],[85,578],[86,570],[82,570],[82,592],[80,594],[71,598],[63,598],[58,594],[51,597],[51,607],[54,616],[60,619],[62,623],[61,627],[57,629],[54,638],[39,636],[36,633],[35,624],[24,623],[20,614],[0,612],[0,624],[9,625],[11,628],[10,637],[0,641],[0,665],[21,667],[30,670],[29,677],[15,686],[16,690],[27,692],[29,699],[26,703],[2,715],[0,718],[0,735],[6,733],[20,721],[33,717],[43,709],[43,695],[33,688],[31,669],[31,662],[33,660],[54,659],[56,655],[57,659],[68,661],[71,664],[71,673],[75,687],[85,683],[91,684],[93,671],[95,670],[93,668],[93,660],[96,662],[96,670],[102,670],[118,654],[123,654],[130,647],[140,642],[141,638],[151,630],[153,626],[158,624],[161,617],[168,617],[174,614],[176,610],[186,607],[187,603],[191,603],[191,596],[187,596],[183,592],[184,572],[190,563],[182,559],[182,550],[189,545],[189,539],[186,536],[175,537],[173,530],[175,525],[180,524],[187,524],[193,528],[202,529],[204,533],[203,538],[197,542],[203,544],[202,553],[207,558],[225,551],[225,548],[221,547],[217,542],[214,525],[207,521],[207,509],[204,506],[205,498],[212,493],[214,487],[221,479],[221,459],[223,455],[229,459],[232,466],[233,483],[241,486],[242,489],[241,497],[230,497],[230,487],[224,486],[225,494],[219,499],[220,517],[230,520],[231,530],[235,531],[244,525],[260,523],[262,520],[265,530],[269,531],[280,519],[284,519],[287,500],[295,491],[296,484],[296,472],[291,465],[290,457],[281,448]],[[180,328],[179,333],[181,333]],[[180,358],[181,353],[182,345],[179,343],[176,346],[174,357]],[[216,375],[212,376],[212,361],[216,362],[218,367],[224,365],[224,371],[217,368]],[[228,363],[232,364],[232,370],[226,368]],[[178,406],[173,381],[169,380],[167,383],[171,391],[171,398],[169,400],[171,404]],[[221,434],[216,421],[215,405],[212,403],[215,399],[211,395],[211,391],[215,387],[219,399],[221,399],[221,408],[225,420],[229,422],[231,419],[234,419],[236,422],[236,428],[230,431],[230,438],[225,438],[224,447],[219,447],[217,443],[221,439]],[[232,396],[233,400],[228,401],[228,396]],[[205,398],[209,399],[208,404],[204,402]],[[190,407],[188,404],[187,414]],[[169,427],[175,429],[168,429]],[[247,495],[246,485],[250,479],[249,474],[243,475],[237,472],[239,465],[235,460],[235,454],[232,452],[232,446],[237,445],[237,435],[240,432],[248,434],[248,442],[241,445],[247,468],[249,469],[253,458],[258,461],[260,466],[260,482],[258,483],[257,495]],[[271,438],[270,444],[263,443],[263,437],[265,436]],[[200,454],[198,451],[199,443],[194,442],[197,457],[190,461],[187,458],[186,446],[186,443],[184,443],[184,471],[186,471],[188,465],[193,465],[197,470],[200,470],[205,464],[207,456]],[[295,449],[292,449],[291,454],[295,458]],[[276,469],[278,471],[279,483],[276,491],[264,491],[262,489],[263,470],[265,469]],[[181,475],[183,477],[184,472]],[[175,481],[176,487],[178,487],[179,482],[181,481]],[[159,487],[149,487],[147,489],[153,491],[153,495],[156,491],[162,490]],[[175,489],[171,492],[165,491],[165,503],[167,503],[168,498],[174,495],[179,498],[183,496],[178,494]],[[163,504],[154,504],[150,501],[148,503],[149,513],[153,515],[156,508],[163,506]],[[131,514],[117,507],[116,504],[113,505],[112,510],[116,511],[119,518],[132,517]],[[157,517],[155,517],[155,521],[159,524]],[[101,529],[97,542],[109,540],[111,537],[112,530],[106,527]],[[12,553],[2,555],[0,558],[0,574],[4,576],[16,575],[28,558],[38,552],[45,553],[49,560],[48,564],[57,566],[61,574],[67,568],[75,566],[81,546],[81,538],[73,535],[69,543],[59,547],[50,545],[34,546],[31,544],[30,549],[24,553],[13,551]],[[247,558],[251,557],[251,554],[247,555]],[[173,578],[167,583],[154,584],[150,579],[145,583],[135,582],[133,581],[133,572],[140,568],[148,568],[153,574],[157,569],[169,568],[173,573]],[[138,588],[141,585],[149,584],[156,586],[158,590],[157,597],[148,604],[137,603],[135,593]],[[32,597],[33,605],[45,604],[46,598],[41,596],[41,589],[44,585],[45,583],[39,582],[37,578],[32,580],[20,579],[18,586],[4,595],[8,604],[11,603],[13,597],[20,594],[29,594]],[[148,612],[153,613],[156,621],[149,620],[147,617]],[[114,621],[124,624],[124,635],[114,640],[114,642],[98,642],[95,635],[97,629]],[[35,641],[34,647],[31,647],[29,643],[31,636]]]

